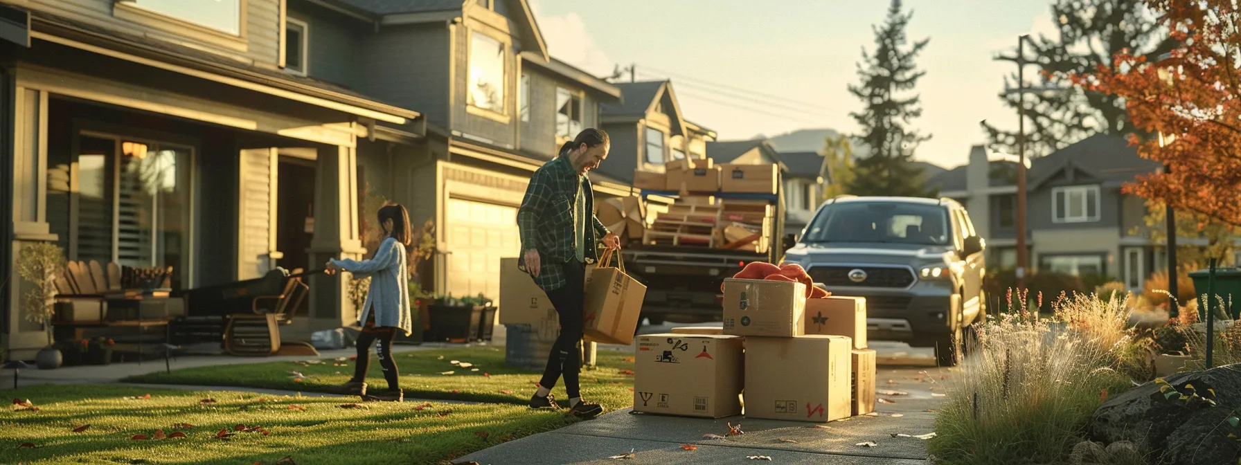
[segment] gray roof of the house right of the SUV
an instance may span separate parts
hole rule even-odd
[[[1138,149],[1126,138],[1096,134],[1034,160],[1029,177],[1031,187],[1037,187],[1057,172],[1073,167],[1102,182],[1128,182],[1160,166],[1158,161],[1139,156]]]

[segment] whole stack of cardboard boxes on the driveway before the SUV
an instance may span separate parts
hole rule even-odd
[[[831,422],[875,408],[866,303],[805,285],[726,279],[724,327],[638,337],[634,410]]]

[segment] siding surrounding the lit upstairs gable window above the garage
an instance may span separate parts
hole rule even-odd
[[[508,74],[504,82],[504,104],[506,108],[506,117],[509,123],[501,123],[486,117],[479,117],[470,114],[467,109],[465,94],[469,91],[469,43],[470,37],[474,35],[474,30],[457,25],[453,26],[455,32],[455,47],[453,47],[454,66],[454,86],[453,86],[453,100],[452,100],[452,122],[449,128],[453,130],[468,134],[470,138],[485,139],[485,143],[499,145],[499,146],[515,146],[515,131],[513,130],[513,124],[517,119],[516,109],[516,93],[517,93],[517,81],[516,74],[516,60],[514,56],[514,47],[508,47],[504,56],[504,68]],[[446,77],[447,72],[443,73]],[[418,108],[418,107],[412,107]]]

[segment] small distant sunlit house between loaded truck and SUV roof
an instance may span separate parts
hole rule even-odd
[[[817,151],[782,153],[788,166],[784,174],[784,231],[800,233],[823,203],[823,193],[831,179],[827,157]]]

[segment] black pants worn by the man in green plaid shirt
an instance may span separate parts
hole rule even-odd
[[[582,340],[582,305],[586,299],[586,265],[576,259],[563,264],[567,283],[556,290],[547,291],[547,299],[560,315],[560,337],[547,355],[547,368],[539,386],[551,389],[556,379],[565,377],[565,391],[568,398],[581,397],[577,376],[582,370],[582,355],[577,343]]]

